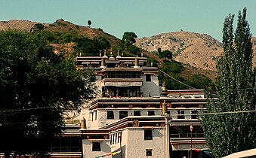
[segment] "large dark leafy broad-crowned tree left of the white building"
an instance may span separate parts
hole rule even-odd
[[[53,53],[42,34],[0,32],[0,152],[44,156],[63,113],[94,94],[91,72]]]

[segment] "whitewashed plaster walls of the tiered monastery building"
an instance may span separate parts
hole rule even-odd
[[[129,58],[129,60],[131,59]],[[100,58],[98,60],[100,61]],[[141,60],[144,61],[144,58],[141,58]],[[122,61],[122,58],[119,61]],[[132,60],[129,62],[132,62]],[[119,80],[119,78],[105,78],[104,81],[104,73],[106,71],[115,71],[115,73],[118,73],[119,68],[117,67],[108,68],[106,65],[100,66],[101,69],[97,69],[96,85],[99,96],[97,96],[95,102],[87,106],[89,108],[82,109],[81,111],[79,119],[82,120],[83,117],[85,118],[85,131],[97,129],[109,130],[108,138],[97,140],[83,138],[82,149],[84,157],[94,158],[106,153],[120,152],[122,150],[122,158],[165,158],[167,156],[166,147],[168,139],[164,121],[165,117],[162,116],[162,101],[165,100],[168,102],[168,116],[172,119],[168,122],[168,125],[176,126],[172,130],[177,129],[177,132],[182,132],[183,130],[187,132],[190,123],[199,126],[198,119],[193,118],[192,111],[197,111],[197,114],[203,109],[203,105],[205,104],[204,95],[201,92],[198,93],[196,90],[193,90],[196,92],[181,90],[180,92],[174,91],[168,96],[160,97],[161,87],[159,87],[158,69],[152,67],[147,68],[145,64],[144,66],[134,67],[136,69],[135,73],[140,75],[140,80],[142,79],[141,86],[141,81],[138,81],[137,78],[132,78],[133,81],[129,80],[131,78],[126,78],[127,81],[125,81],[125,78],[122,78],[122,80]],[[128,73],[131,73],[132,66],[128,69]],[[120,68],[120,70],[124,73],[125,68]],[[116,84],[111,84],[111,81],[116,82]],[[136,88],[139,87],[136,91],[136,97],[119,97],[119,90],[122,89],[120,85],[125,85],[125,88],[127,85]],[[109,90],[112,88],[111,90],[113,92],[110,96],[100,96],[106,93],[106,91],[103,92],[103,89],[106,87],[109,87]],[[129,90],[127,91],[129,92]],[[140,91],[142,96],[137,95],[138,91]],[[202,107],[199,105],[202,105]],[[125,118],[120,117],[121,111],[126,111]],[[139,115],[137,111],[140,111]],[[113,114],[113,116],[108,118],[109,114]],[[156,120],[158,117],[159,120]],[[134,120],[140,120],[140,123],[143,125],[133,126],[132,123],[134,123]],[[187,129],[179,129],[178,126],[180,125]],[[147,129],[152,130],[152,140],[145,140],[144,138],[144,132]],[[186,135],[178,133],[174,138],[171,138],[169,141],[171,141],[172,150],[190,150],[189,135],[189,132]],[[92,151],[92,143],[94,141],[100,141],[100,151]],[[207,148],[204,138],[194,138],[193,142],[193,149]],[[147,156],[147,152],[151,155]],[[121,153],[112,157],[120,158]],[[180,158],[180,156],[177,157]]]

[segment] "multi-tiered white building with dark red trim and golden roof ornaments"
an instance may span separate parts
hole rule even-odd
[[[198,120],[204,90],[166,90],[143,56],[105,51],[78,56],[77,66],[94,71],[98,96],[82,109],[80,123],[66,126],[51,156],[210,157],[202,152],[208,148]]]

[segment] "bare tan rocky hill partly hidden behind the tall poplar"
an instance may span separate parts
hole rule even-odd
[[[256,38],[251,41],[256,53]],[[136,46],[152,53],[157,53],[158,48],[170,50],[176,61],[205,70],[215,70],[217,56],[223,52],[221,42],[210,35],[184,31],[137,38]],[[253,62],[256,66],[256,56]]]

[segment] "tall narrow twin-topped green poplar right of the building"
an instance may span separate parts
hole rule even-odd
[[[254,113],[229,113],[255,110],[255,75],[252,71],[251,33],[246,20],[246,8],[239,11],[236,32],[234,15],[224,21],[224,55],[217,62],[216,103],[207,104],[202,117],[205,140],[216,157],[256,147],[256,115]]]

